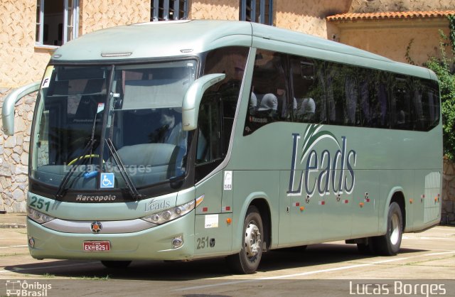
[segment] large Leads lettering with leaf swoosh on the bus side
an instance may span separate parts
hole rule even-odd
[[[302,192],[311,197],[316,193],[320,196],[330,193],[350,194],[355,186],[355,161],[357,153],[354,150],[348,151],[346,136],[341,136],[341,143],[336,136],[329,131],[322,130],[323,125],[311,124],[306,127],[304,135],[292,134],[292,160],[291,175],[289,176],[288,196],[299,196]],[[326,142],[329,141],[329,142]],[[333,142],[332,142],[333,141]],[[314,147],[327,147],[332,142],[333,151]],[[334,144],[334,145],[333,145]],[[325,146],[324,146],[325,145]],[[299,156],[299,148],[301,155]],[[296,174],[303,165],[300,176]],[[296,178],[299,179],[298,186],[295,185]]]

